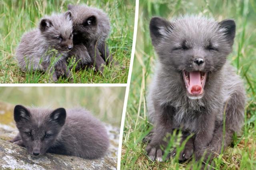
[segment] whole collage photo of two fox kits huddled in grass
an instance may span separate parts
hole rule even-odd
[[[126,83],[135,1],[2,0],[1,83]]]

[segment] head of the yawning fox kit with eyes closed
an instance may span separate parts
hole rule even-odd
[[[153,17],[152,44],[165,74],[180,74],[188,98],[204,96],[204,85],[226,63],[232,51],[236,24],[228,19],[217,22],[200,16],[184,16],[173,21]]]

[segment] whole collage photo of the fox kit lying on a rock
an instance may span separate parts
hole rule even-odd
[[[0,87],[0,168],[116,169],[125,87]]]

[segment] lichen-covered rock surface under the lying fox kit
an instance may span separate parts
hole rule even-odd
[[[119,128],[106,124],[110,137],[110,148],[104,158],[88,160],[76,156],[46,153],[34,158],[25,148],[9,143],[18,130],[13,121],[13,108],[0,102],[0,169],[22,170],[87,170],[116,169]]]

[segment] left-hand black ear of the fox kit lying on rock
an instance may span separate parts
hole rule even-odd
[[[16,122],[20,122],[28,119],[30,119],[30,113],[28,109],[26,109],[24,106],[16,105],[14,107],[14,120]]]

